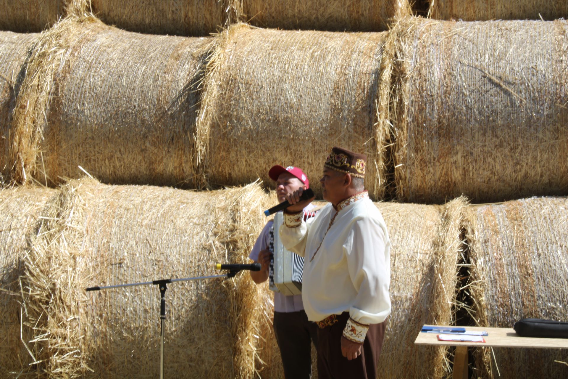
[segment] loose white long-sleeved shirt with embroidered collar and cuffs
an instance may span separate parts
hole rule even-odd
[[[285,214],[287,249],[304,256],[302,299],[308,319],[349,311],[344,336],[362,343],[369,324],[391,311],[390,241],[385,220],[366,191],[323,207],[312,220]]]

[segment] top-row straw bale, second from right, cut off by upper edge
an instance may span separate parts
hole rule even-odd
[[[240,0],[240,19],[264,28],[381,31],[411,14],[408,0]]]

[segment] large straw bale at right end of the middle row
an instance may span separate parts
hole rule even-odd
[[[567,27],[410,19],[395,28],[400,200],[568,193]]]

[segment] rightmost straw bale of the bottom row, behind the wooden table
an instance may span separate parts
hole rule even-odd
[[[471,297],[479,326],[508,327],[523,318],[566,321],[568,199],[528,198],[471,207],[467,220]],[[481,350],[481,349],[480,349]],[[484,349],[485,350],[485,349]],[[494,348],[478,352],[478,377],[566,378],[566,353]],[[497,368],[495,367],[495,363]]]

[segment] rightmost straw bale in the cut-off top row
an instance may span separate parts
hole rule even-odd
[[[432,0],[430,16],[434,19],[464,21],[554,20],[568,16],[565,0]]]

